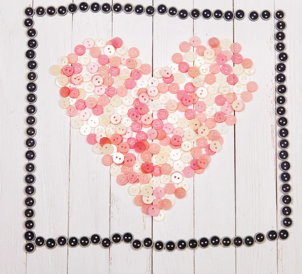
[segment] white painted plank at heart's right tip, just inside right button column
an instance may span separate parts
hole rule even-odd
[[[271,0],[234,1],[235,10],[247,13],[235,21],[235,41],[253,60],[259,86],[246,109],[236,113],[236,232],[241,236],[276,229],[274,20],[248,19],[252,10],[273,8]],[[269,241],[238,248],[237,273],[276,273],[276,252],[276,242]]]

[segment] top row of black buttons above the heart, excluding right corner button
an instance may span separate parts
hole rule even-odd
[[[209,9],[204,9],[203,11],[200,11],[199,9],[194,8],[190,12],[188,12],[186,9],[178,10],[176,7],[168,8],[164,4],[161,4],[157,7],[144,7],[140,4],[133,6],[130,3],[127,3],[125,5],[122,5],[120,3],[114,3],[113,5],[111,5],[109,3],[99,4],[98,2],[93,2],[90,5],[87,2],[82,2],[79,5],[70,3],[69,5],[67,5],[67,7],[60,6],[58,8],[55,8],[54,6],[49,6],[47,8],[39,6],[36,8],[36,10],[31,7],[28,7],[25,9],[25,15],[33,16],[34,14],[36,14],[37,16],[54,16],[58,14],[59,16],[64,16],[68,12],[74,14],[78,11],[87,12],[89,10],[93,13],[98,13],[100,11],[102,11],[103,13],[110,13],[111,11],[114,13],[124,12],[126,14],[131,14],[134,12],[137,15],[145,13],[147,16],[153,16],[158,13],[160,15],[168,14],[171,17],[178,16],[180,19],[187,19],[189,17],[193,19],[198,19],[200,17],[202,17],[203,19],[210,19],[213,17],[216,20],[220,20],[223,18],[226,21],[232,21],[234,18],[236,18],[237,20],[242,20],[245,18],[245,12],[243,10],[237,10],[234,13],[233,11],[223,12],[219,9],[214,10],[213,12]],[[268,10],[264,10],[260,14],[256,11],[251,11],[248,14],[248,17],[251,21],[257,21],[259,18],[262,18],[263,20],[269,20],[271,18],[271,13]]]

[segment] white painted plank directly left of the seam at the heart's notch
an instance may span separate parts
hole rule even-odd
[[[128,3],[120,1],[122,5]],[[131,4],[152,5],[152,1],[132,1]],[[146,15],[113,14],[112,37],[120,37],[124,45],[137,47],[142,63],[152,65],[152,17]],[[147,78],[147,77],[146,77]],[[152,218],[136,207],[133,196],[111,176],[110,234],[131,232],[134,238],[143,239],[152,235]],[[110,273],[151,273],[152,250],[135,251],[129,244],[121,243],[110,249]]]

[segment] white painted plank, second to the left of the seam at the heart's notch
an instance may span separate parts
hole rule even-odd
[[[80,4],[82,1],[74,1]],[[88,1],[91,4],[93,1]],[[111,14],[73,15],[72,51],[85,39],[111,36]],[[70,131],[69,237],[109,236],[110,174],[79,129]],[[69,273],[108,273],[109,250],[101,246],[68,249]]]

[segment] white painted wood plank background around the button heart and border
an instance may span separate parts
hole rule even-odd
[[[81,1],[74,1],[80,3]],[[92,2],[92,1],[87,1]],[[125,3],[126,1],[120,1]],[[69,0],[11,0],[0,8],[0,119],[2,153],[0,173],[0,273],[300,273],[302,271],[300,231],[301,220],[301,79],[300,79],[300,11],[296,1],[281,0],[154,0],[191,10],[237,10],[246,13],[264,9],[283,9],[287,23],[286,63],[287,118],[289,119],[289,162],[293,191],[293,227],[286,241],[255,244],[235,249],[209,247],[195,251],[156,252],[147,249],[133,251],[119,244],[110,249],[37,248],[26,254],[23,246],[23,199],[25,194],[25,107],[26,90],[26,29],[22,25],[23,10],[28,5],[67,5]],[[295,5],[293,4],[295,2]],[[135,0],[133,4],[152,5],[152,0]],[[130,231],[135,238],[153,236],[155,240],[189,239],[218,235],[246,236],[256,232],[279,230],[280,182],[276,193],[276,136],[274,81],[274,19],[266,22],[248,18],[233,22],[192,19],[182,21],[168,15],[152,18],[111,14],[80,13],[64,17],[34,17],[39,46],[36,49],[39,67],[38,111],[36,114],[37,158],[35,175],[36,235],[44,237],[90,236],[99,233],[107,237],[113,232]],[[70,130],[69,118],[58,108],[57,88],[49,75],[49,66],[58,56],[71,52],[85,38],[120,36],[127,46],[140,49],[143,62],[164,66],[171,60],[178,45],[192,35],[203,43],[212,36],[233,38],[243,45],[244,56],[250,56],[257,68],[255,80],[260,89],[238,123],[224,136],[222,151],[212,158],[206,172],[191,180],[188,195],[178,200],[163,222],[152,222],[132,203],[126,187],[110,181],[99,155],[86,144],[84,136]],[[69,158],[70,142],[70,158]],[[70,161],[70,166],[69,166]],[[69,178],[70,174],[70,178]]]

